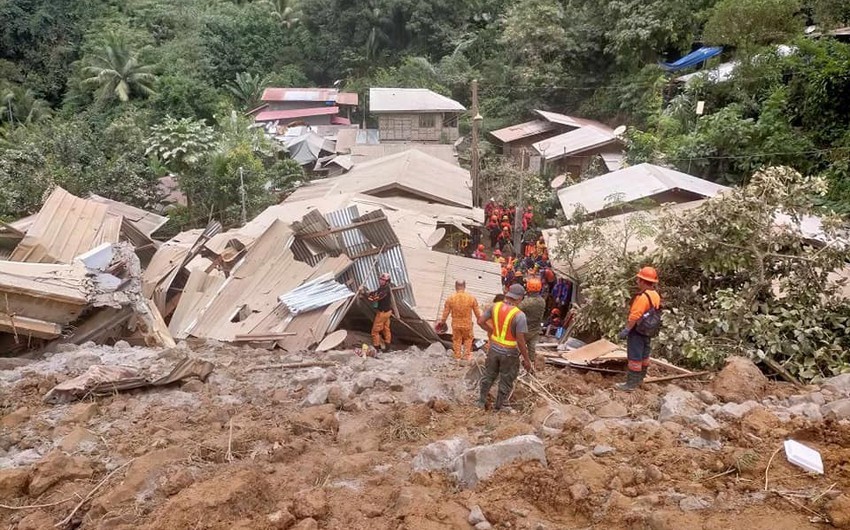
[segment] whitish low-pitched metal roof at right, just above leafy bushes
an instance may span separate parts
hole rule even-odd
[[[578,205],[592,214],[607,208],[612,198],[628,203],[672,190],[713,197],[725,189],[728,188],[673,169],[638,164],[564,188],[558,192],[558,199],[570,218]]]

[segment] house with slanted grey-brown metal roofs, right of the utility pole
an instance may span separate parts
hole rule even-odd
[[[623,145],[614,131],[594,120],[535,110],[537,119],[490,133],[502,153],[528,157],[532,167],[542,164],[557,173],[582,174],[597,157],[608,171],[622,167]]]

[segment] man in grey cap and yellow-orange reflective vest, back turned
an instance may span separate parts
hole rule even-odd
[[[499,380],[499,391],[493,409],[501,410],[507,408],[506,401],[519,375],[520,362],[526,370],[533,371],[525,345],[528,323],[525,314],[517,307],[524,296],[522,285],[511,285],[503,302],[497,302],[478,317],[478,325],[487,330],[490,336],[490,350],[487,352],[478,397],[478,406],[482,409],[487,404],[487,395],[496,379]]]

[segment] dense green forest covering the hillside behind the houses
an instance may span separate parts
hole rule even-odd
[[[472,79],[485,129],[533,108],[625,124],[632,162],[723,183],[789,165],[828,177],[823,206],[846,214],[850,44],[828,32],[846,25],[846,0],[0,0],[0,219],[53,185],[149,205],[175,173],[189,207],[173,229],[234,221],[237,168],[252,211],[268,183],[303,179],[247,127],[264,87],[468,104]],[[658,66],[705,44],[732,79]]]

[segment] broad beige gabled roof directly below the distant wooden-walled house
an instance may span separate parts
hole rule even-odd
[[[293,200],[334,194],[397,193],[451,206],[471,207],[469,172],[416,149],[376,158],[340,177],[321,179],[297,189]],[[391,196],[391,195],[390,195]]]

